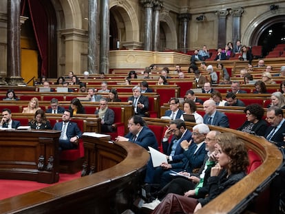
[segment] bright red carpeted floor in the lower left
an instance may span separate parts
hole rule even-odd
[[[66,182],[81,177],[81,171],[75,174],[59,174],[59,184],[60,182]],[[13,197],[15,195],[20,195],[23,193],[28,193],[36,189],[42,189],[47,186],[52,186],[54,184],[42,184],[39,182],[33,182],[28,180],[0,180],[0,200],[8,197]]]

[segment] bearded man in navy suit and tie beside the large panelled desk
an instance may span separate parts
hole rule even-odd
[[[54,130],[61,131],[61,136],[59,137],[59,149],[74,149],[76,147],[76,142],[81,138],[82,133],[78,128],[76,122],[71,122],[72,111],[66,109],[63,112],[62,122],[56,122],[54,125]]]

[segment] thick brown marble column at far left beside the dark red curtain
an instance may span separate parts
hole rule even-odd
[[[20,0],[7,1],[7,77],[8,85],[23,83],[21,78]]]

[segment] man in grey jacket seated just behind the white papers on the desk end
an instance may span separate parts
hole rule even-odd
[[[106,98],[101,98],[99,101],[99,109],[96,109],[94,114],[98,114],[98,117],[101,118],[101,132],[113,132],[113,123],[115,119],[115,113],[112,109],[108,108],[108,102]]]

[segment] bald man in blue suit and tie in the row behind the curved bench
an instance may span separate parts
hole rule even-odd
[[[217,111],[214,100],[206,100],[203,107],[205,111],[204,124],[229,128],[229,118]]]

